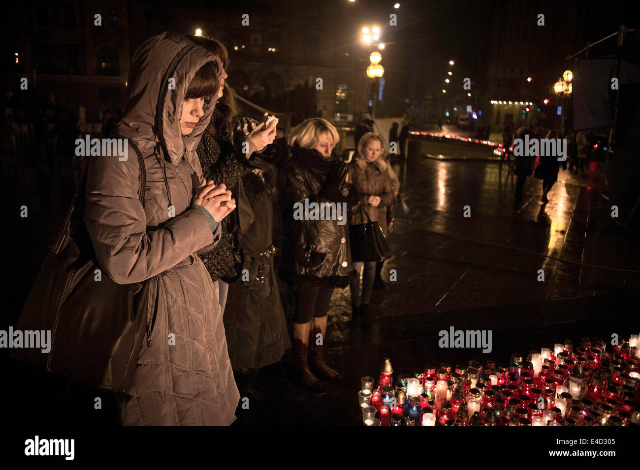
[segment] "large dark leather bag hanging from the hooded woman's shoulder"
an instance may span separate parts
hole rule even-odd
[[[131,140],[129,145],[138,155],[138,199],[144,204],[145,164],[137,146]],[[42,269],[17,322],[21,331],[51,331],[49,352],[41,348],[12,349],[12,357],[115,393],[133,384],[145,331],[150,338],[148,318],[157,302],[157,295],[146,295],[147,289],[157,290],[158,279],[120,285],[97,271],[100,267],[83,221],[87,173],[88,164],[60,231],[49,240]],[[143,304],[148,297],[153,301]]]

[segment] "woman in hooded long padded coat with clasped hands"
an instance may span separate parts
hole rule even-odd
[[[90,159],[84,222],[100,267],[120,284],[147,281],[147,341],[134,384],[117,396],[123,425],[230,425],[240,395],[211,276],[198,256],[220,240],[235,207],[202,179],[196,155],[220,86],[220,59],[177,33],[136,51],[116,132],[129,157]],[[216,201],[217,200],[217,201]]]

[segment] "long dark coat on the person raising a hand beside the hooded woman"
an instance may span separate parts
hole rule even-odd
[[[226,247],[211,251],[205,265],[212,276],[229,283],[223,316],[229,359],[234,369],[268,366],[291,347],[273,267],[273,204],[269,183],[275,184],[273,164],[279,153],[269,145],[250,159],[242,153],[242,129],[257,121],[243,119],[234,132],[234,145],[218,142],[205,132],[198,155],[207,180],[224,183],[237,209],[227,216]],[[216,151],[216,148],[218,149]],[[221,272],[218,266],[225,267]]]

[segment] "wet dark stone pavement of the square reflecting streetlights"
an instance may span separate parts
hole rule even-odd
[[[454,157],[460,152],[449,150]],[[430,153],[428,143],[422,153]],[[515,202],[515,176],[493,161],[422,157],[408,162],[399,176],[410,213],[396,219],[390,235],[394,256],[383,270],[385,289],[374,291],[371,318],[351,318],[348,288],[333,294],[325,354],[344,379],[325,382],[321,393],[300,388],[287,352],[282,363],[260,371],[255,386],[264,398],[249,396],[248,409],[237,410],[236,425],[362,425],[360,377],[377,379],[385,356],[396,373],[410,373],[428,362],[503,363],[511,352],[540,352],[567,338],[577,343],[583,336],[607,340],[612,333],[628,338],[640,332],[639,244],[607,217],[598,191],[602,164],[592,162],[584,176],[561,169],[546,205],[540,201],[541,180],[533,177],[527,178],[523,200]],[[7,255],[16,267],[9,285],[16,293],[12,324],[37,274],[45,234],[60,221],[63,201],[73,191],[70,184],[56,186],[55,178],[16,178],[24,179],[20,197],[30,214],[49,212],[22,225],[19,219],[10,222],[18,228],[9,246],[19,248]],[[470,217],[464,217],[465,206]],[[392,269],[396,281],[388,281]],[[538,280],[541,269],[544,281]],[[451,326],[492,330],[492,352],[440,349],[438,331]],[[15,412],[24,419],[43,419],[46,409],[52,419],[115,424],[108,395],[100,395],[101,412],[88,413],[85,405],[95,393],[26,373],[16,364],[8,373],[17,378]]]

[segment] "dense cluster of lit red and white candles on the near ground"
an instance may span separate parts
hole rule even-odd
[[[607,345],[570,340],[554,349],[511,354],[509,364],[427,364],[398,374],[387,358],[358,393],[367,426],[628,426],[640,425],[638,335]]]

